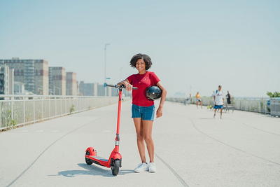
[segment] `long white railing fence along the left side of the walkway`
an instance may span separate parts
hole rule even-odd
[[[118,97],[0,95],[0,130],[87,111],[118,102]]]

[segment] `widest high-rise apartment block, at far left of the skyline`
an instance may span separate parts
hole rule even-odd
[[[25,90],[37,95],[48,95],[48,62],[45,60],[0,60],[14,69],[14,79],[25,84]]]

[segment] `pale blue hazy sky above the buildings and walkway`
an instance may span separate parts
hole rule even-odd
[[[0,1],[0,59],[47,60],[78,81],[108,83],[151,57],[167,97],[280,91],[280,1]]]

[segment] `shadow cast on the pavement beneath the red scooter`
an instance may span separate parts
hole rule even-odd
[[[78,164],[78,166],[83,167],[84,169],[87,170],[66,170],[66,171],[58,172],[56,176],[62,175],[66,177],[75,177],[76,175],[99,175],[99,176],[113,177],[111,169],[109,168],[103,169],[95,165],[86,165],[84,163],[80,163]],[[130,174],[130,173],[134,173],[134,170],[120,169],[118,175]]]

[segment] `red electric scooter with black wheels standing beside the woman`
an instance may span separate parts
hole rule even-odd
[[[93,147],[89,147],[85,150],[85,162],[87,165],[92,165],[95,163],[97,165],[102,165],[105,167],[111,167],[112,174],[118,175],[120,167],[122,167],[122,155],[118,152],[119,144],[120,144],[120,109],[122,105],[122,90],[125,88],[125,85],[108,85],[106,86],[118,88],[118,120],[117,120],[117,134],[116,134],[116,144],[115,148],[111,152],[109,159],[101,158],[97,156],[97,151]],[[132,89],[137,89],[132,87]]]

